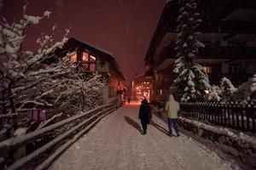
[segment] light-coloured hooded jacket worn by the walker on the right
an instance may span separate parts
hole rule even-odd
[[[169,118],[177,118],[177,111],[179,111],[179,105],[174,100],[173,95],[170,94],[168,101],[166,102],[166,112]]]

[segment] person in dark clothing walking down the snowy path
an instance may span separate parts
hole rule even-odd
[[[147,99],[143,99],[142,105],[140,106],[139,110],[139,117],[142,123],[143,127],[143,134],[147,133],[147,125],[150,122],[150,119],[152,118],[150,106],[148,105]]]

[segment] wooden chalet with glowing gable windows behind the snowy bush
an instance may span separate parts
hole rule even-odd
[[[120,99],[124,97],[125,76],[119,69],[113,55],[107,51],[71,37],[63,48],[55,50],[54,57],[50,58],[48,62],[51,63],[60,59],[69,60],[73,63],[79,62],[81,66],[86,68],[87,73],[98,71],[108,77],[107,87],[102,90],[104,103],[110,103],[116,99],[119,99],[120,102]]]

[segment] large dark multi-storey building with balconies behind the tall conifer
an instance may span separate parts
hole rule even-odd
[[[211,84],[228,77],[238,86],[256,73],[256,1],[196,0],[201,14],[201,32],[196,38],[205,44],[195,62],[201,64]],[[148,47],[145,77],[151,77],[152,101],[164,101],[171,93],[175,75],[178,0],[166,1]]]

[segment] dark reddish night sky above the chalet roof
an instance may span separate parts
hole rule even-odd
[[[42,32],[57,26],[56,40],[65,28],[69,37],[89,42],[113,54],[128,81],[144,72],[143,58],[157,26],[166,0],[30,0],[27,14],[52,11],[26,32],[25,49],[36,50]],[[1,15],[19,20],[25,1],[5,0]]]

